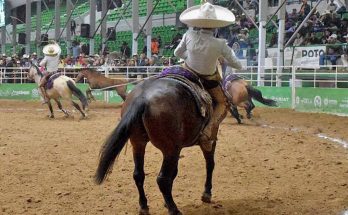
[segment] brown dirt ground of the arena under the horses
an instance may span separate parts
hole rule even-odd
[[[70,110],[71,107],[69,107]],[[131,146],[101,186],[93,182],[100,146],[120,107],[94,103],[87,120],[46,118],[39,102],[0,100],[0,214],[137,214]],[[213,202],[200,200],[205,162],[184,149],[173,195],[184,214],[347,214],[348,117],[256,108],[253,120],[221,126]],[[145,157],[151,214],[166,214],[156,184],[161,154]]]

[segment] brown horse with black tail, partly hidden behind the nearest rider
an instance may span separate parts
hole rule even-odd
[[[277,106],[276,101],[263,98],[261,91],[250,86],[237,75],[226,76],[223,81],[223,88],[230,103],[230,113],[239,124],[242,123],[242,116],[239,114],[237,106],[246,110],[248,119],[251,118],[251,111],[255,108],[252,99],[267,106]]]

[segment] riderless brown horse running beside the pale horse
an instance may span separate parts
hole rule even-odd
[[[77,75],[75,82],[79,82],[82,78],[86,78],[88,80],[89,89],[86,90],[86,96],[89,101],[92,99],[95,100],[94,96],[92,95],[92,90],[94,89],[116,90],[123,101],[126,100],[128,81],[107,78],[97,71],[91,69],[81,70]]]

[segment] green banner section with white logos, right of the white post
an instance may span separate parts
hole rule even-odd
[[[348,89],[296,88],[296,110],[348,114]]]

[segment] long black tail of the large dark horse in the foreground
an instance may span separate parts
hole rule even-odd
[[[142,99],[135,100],[121,118],[117,127],[111,132],[105,141],[99,159],[98,169],[95,174],[95,182],[101,184],[109,170],[112,168],[116,157],[120,154],[131,134],[132,125],[139,119],[145,110],[145,102]]]

